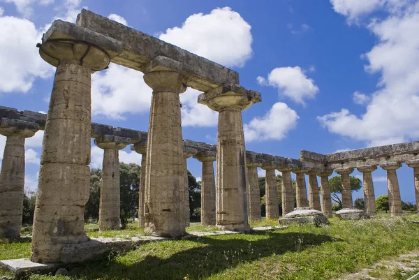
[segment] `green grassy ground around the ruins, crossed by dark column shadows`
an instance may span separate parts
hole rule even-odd
[[[30,279],[337,279],[378,260],[419,249],[419,225],[406,219],[330,222],[324,228],[291,226],[272,232],[153,242],[121,255],[111,253],[105,260],[65,265],[71,272],[68,277],[31,275]],[[266,225],[278,223],[252,224]],[[138,235],[134,227],[118,234]],[[196,223],[188,228],[204,230],[216,231]],[[87,232],[99,235],[94,228]],[[0,259],[29,254],[29,242],[0,241]]]

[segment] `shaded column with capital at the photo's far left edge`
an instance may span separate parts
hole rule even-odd
[[[19,128],[5,126],[15,124]],[[24,198],[24,139],[34,136],[38,124],[1,119],[6,136],[0,173],[0,238],[20,237]]]

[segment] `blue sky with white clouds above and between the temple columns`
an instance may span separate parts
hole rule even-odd
[[[418,1],[0,0],[0,7],[3,106],[47,112],[54,68],[36,43],[53,20],[75,22],[87,8],[240,73],[240,83],[263,98],[243,112],[254,152],[297,159],[300,149],[418,140]],[[196,103],[198,94],[181,95],[184,138],[215,143],[216,113]],[[150,97],[142,73],[111,65],[92,75],[93,121],[147,131]],[[42,136],[27,140],[29,189],[36,189]],[[93,145],[91,154],[91,166],[100,167],[101,149]],[[121,161],[140,159],[128,148],[120,153]],[[198,161],[189,159],[188,168],[200,177]],[[397,174],[402,200],[413,202],[413,170]],[[385,171],[373,178],[376,196],[385,194]]]

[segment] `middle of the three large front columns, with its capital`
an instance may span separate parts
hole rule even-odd
[[[153,89],[147,140],[145,231],[177,237],[185,233],[185,164],[179,94],[186,87],[182,66],[156,57],[145,67],[145,83]]]

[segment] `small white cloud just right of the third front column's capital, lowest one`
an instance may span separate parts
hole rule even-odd
[[[244,124],[244,139],[281,140],[286,133],[295,127],[298,119],[297,112],[286,103],[277,102],[263,117],[254,117],[249,124]]]

